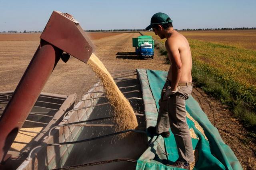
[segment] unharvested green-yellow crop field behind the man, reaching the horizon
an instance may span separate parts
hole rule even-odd
[[[228,105],[249,128],[256,127],[256,30],[180,32],[190,43],[193,81]],[[153,32],[166,54],[164,42]],[[248,41],[247,41],[248,40]]]

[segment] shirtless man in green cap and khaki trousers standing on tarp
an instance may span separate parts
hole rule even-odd
[[[192,57],[188,41],[172,27],[172,20],[164,13],[156,13],[146,30],[153,29],[161,39],[166,38],[165,47],[171,62],[166,83],[159,100],[157,134],[169,137],[171,128],[178,147],[179,158],[173,166],[190,169],[194,160],[192,140],[186,122],[185,100],[192,92]]]

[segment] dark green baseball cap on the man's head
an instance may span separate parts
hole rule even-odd
[[[171,18],[162,12],[154,14],[150,20],[150,25],[147,26],[146,30],[150,30],[154,25],[163,25],[172,22]]]

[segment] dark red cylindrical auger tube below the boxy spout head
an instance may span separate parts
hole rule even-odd
[[[4,159],[18,131],[26,121],[62,53],[61,49],[41,40],[0,117],[0,138],[2,138],[2,142],[0,141],[0,161]],[[42,67],[38,67],[38,65]]]

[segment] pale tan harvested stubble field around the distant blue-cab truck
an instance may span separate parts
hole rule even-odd
[[[109,34],[109,33],[106,33]],[[134,55],[132,38],[138,33],[122,33],[115,36],[92,40],[96,46],[95,54],[110,73],[136,68],[168,70],[163,64],[165,58],[156,53],[154,59],[138,59]],[[32,59],[38,41],[0,41],[0,91],[14,90]],[[70,81],[72,80],[72,81]],[[97,81],[97,77],[88,65],[74,57],[67,63],[59,61],[43,92],[57,94],[77,93],[78,98],[88,91]]]

